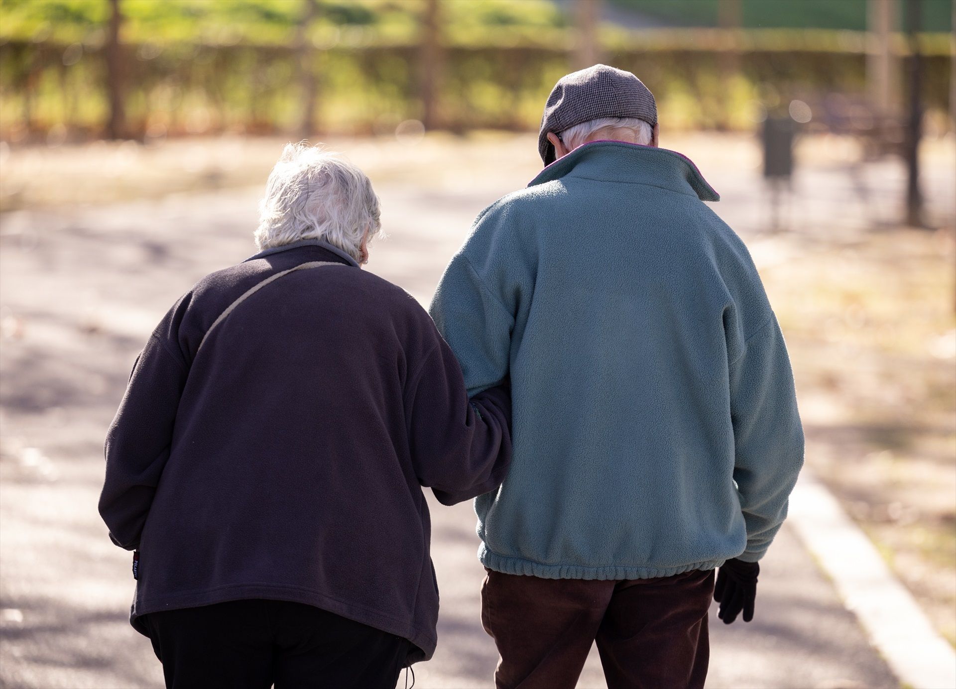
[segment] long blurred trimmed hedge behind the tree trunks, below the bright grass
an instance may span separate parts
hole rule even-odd
[[[777,44],[751,46],[734,57],[701,41],[671,48],[646,41],[642,48],[609,40],[606,61],[641,76],[671,127],[749,128],[758,100],[799,97],[813,104],[833,93],[858,98],[865,86],[859,52]],[[132,135],[293,131],[300,113],[298,59],[289,47],[141,43],[125,50]],[[318,126],[372,133],[419,118],[416,53],[401,43],[315,50]],[[563,48],[446,47],[441,118],[452,130],[535,128],[548,91],[569,69]],[[925,57],[923,95],[930,108],[947,107],[949,69],[947,56]],[[0,45],[0,77],[0,137],[58,125],[88,136],[102,130],[101,45],[8,40]]]

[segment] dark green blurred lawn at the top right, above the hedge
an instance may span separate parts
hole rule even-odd
[[[665,24],[716,27],[720,0],[609,0],[619,8],[640,12]],[[951,0],[922,0],[923,31],[952,28]],[[867,0],[740,0],[745,29],[837,29],[866,31]],[[903,3],[898,4],[902,11]],[[901,25],[902,26],[902,25]]]

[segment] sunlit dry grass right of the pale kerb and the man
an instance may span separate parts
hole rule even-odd
[[[762,273],[793,356],[807,461],[956,644],[952,236],[767,241],[778,260]]]

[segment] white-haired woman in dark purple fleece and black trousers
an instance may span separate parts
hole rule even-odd
[[[358,168],[290,144],[260,208],[260,252],[137,359],[99,512],[167,686],[394,687],[436,643],[421,486],[500,484],[511,401],[469,401],[428,314],[359,268],[380,221]]]

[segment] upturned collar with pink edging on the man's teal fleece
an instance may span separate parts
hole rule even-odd
[[[600,182],[650,184],[701,201],[720,201],[720,195],[686,156],[656,146],[626,141],[590,141],[578,146],[538,173],[528,186],[578,177]]]

